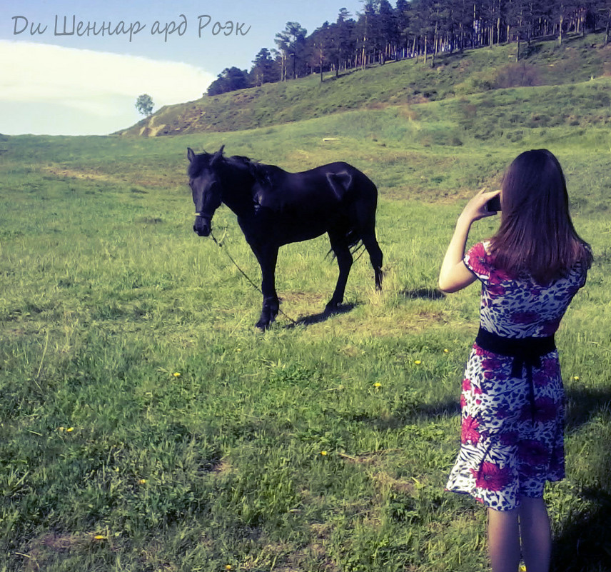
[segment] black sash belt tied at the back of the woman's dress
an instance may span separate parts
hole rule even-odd
[[[554,351],[556,344],[554,336],[545,338],[505,338],[496,333],[486,331],[480,326],[475,343],[486,351],[498,353],[501,356],[513,358],[511,365],[511,376],[521,377],[526,368],[526,381],[528,382],[530,411],[532,423],[535,423],[535,386],[532,384],[532,368],[541,367],[541,356]]]

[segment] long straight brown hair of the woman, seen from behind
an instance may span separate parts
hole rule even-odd
[[[575,231],[562,167],[547,149],[525,151],[503,178],[500,228],[491,239],[495,264],[545,284],[577,263],[588,268],[590,246]]]

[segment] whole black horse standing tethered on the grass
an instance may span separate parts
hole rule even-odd
[[[340,275],[325,311],[343,301],[353,257],[350,249],[361,241],[375,271],[375,287],[382,288],[382,251],[375,239],[378,189],[347,163],[287,173],[279,167],[247,157],[188,149],[189,185],[196,219],[193,231],[211,232],[214,211],[225,203],[237,216],[246,241],[261,265],[263,309],[258,328],[267,328],[278,313],[274,274],[278,248],[328,233]]]

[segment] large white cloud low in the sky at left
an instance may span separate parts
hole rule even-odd
[[[60,105],[84,118],[124,118],[117,100],[129,99],[133,106],[145,93],[156,109],[192,101],[216,78],[180,62],[21,41],[0,40],[0,61],[0,101]]]

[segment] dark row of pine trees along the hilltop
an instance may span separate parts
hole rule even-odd
[[[364,0],[353,17],[340,9],[308,36],[298,22],[276,34],[275,49],[262,48],[250,71],[226,68],[208,87],[208,95],[288,81],[310,74],[365,68],[406,58],[423,58],[465,49],[605,30],[610,41],[611,0]]]

